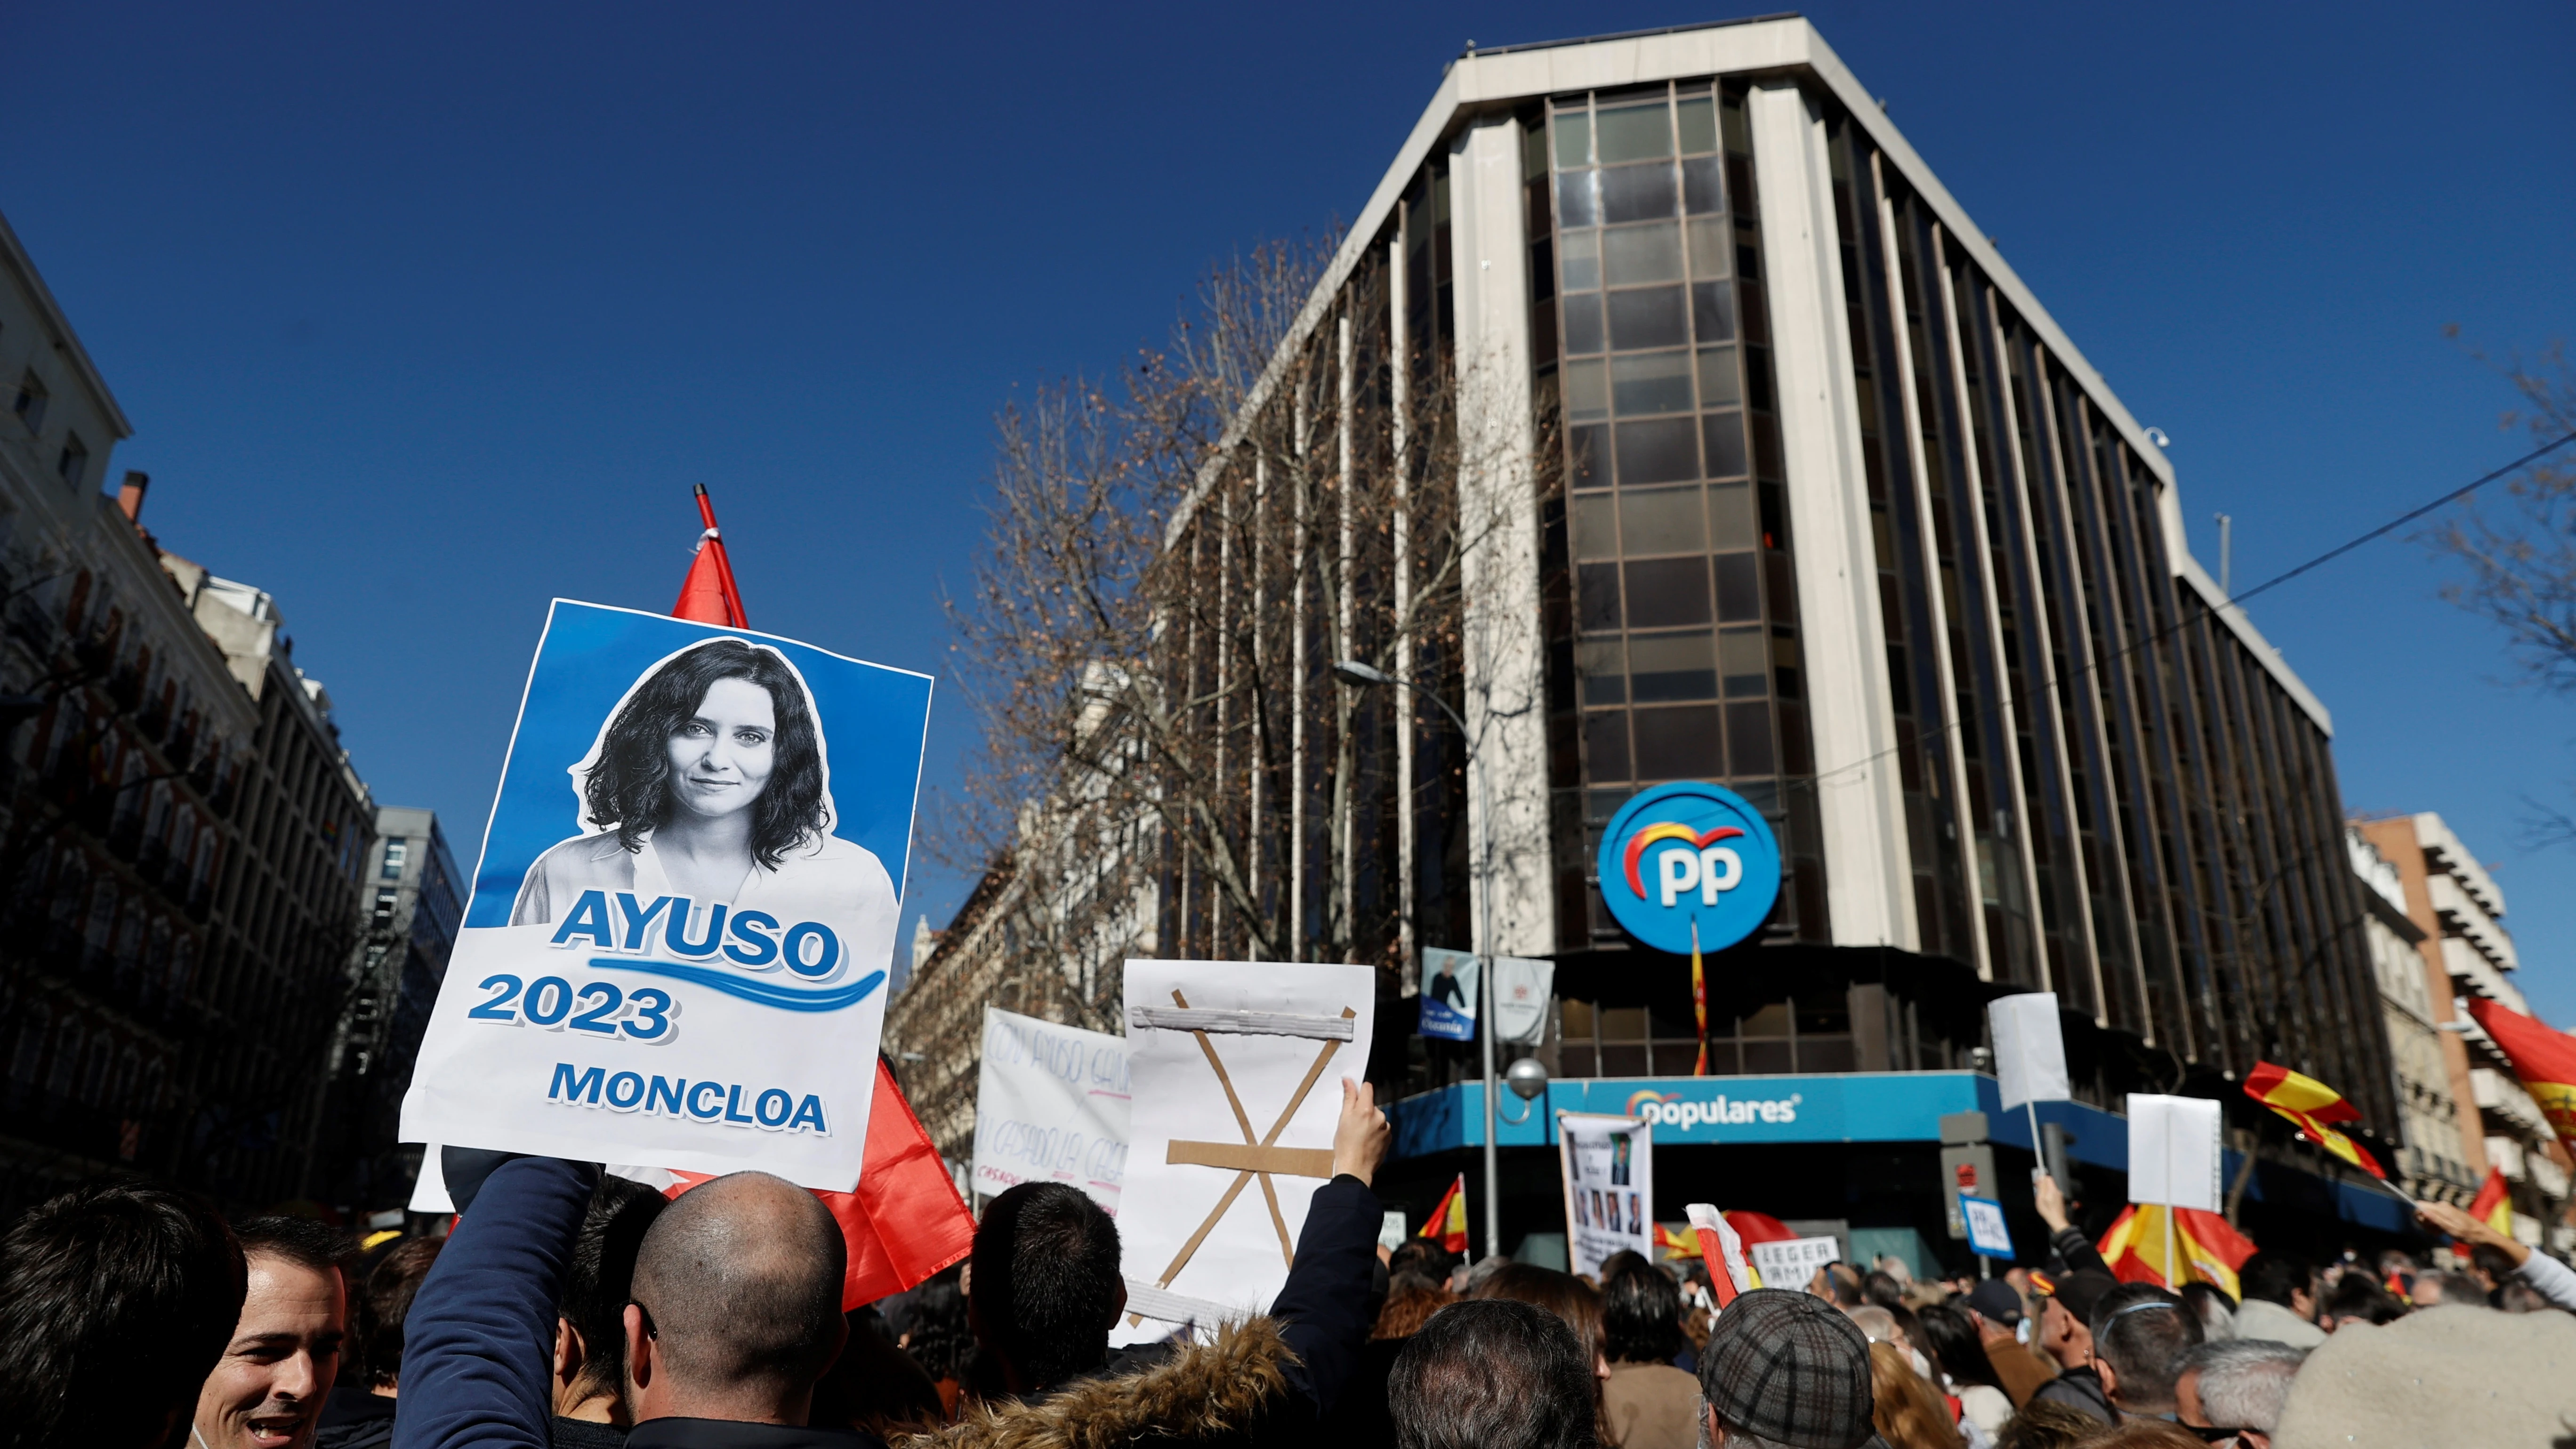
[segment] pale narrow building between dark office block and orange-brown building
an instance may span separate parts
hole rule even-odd
[[[2447,995],[2437,1003],[2419,954],[2424,928],[2406,915],[2406,879],[2360,830],[2344,830],[2352,874],[2362,879],[2362,931],[2370,936],[2370,969],[2380,982],[2380,1016],[2388,1024],[2388,1060],[2396,1065],[2398,1160],[2383,1163],[2419,1199],[2465,1204],[2478,1194],[2476,1152],[2460,1142],[2460,1104],[2450,1093],[2450,1062],[2434,1021],[2450,1016]]]

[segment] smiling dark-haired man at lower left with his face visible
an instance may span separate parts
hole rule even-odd
[[[304,1217],[252,1217],[232,1232],[247,1266],[242,1318],[196,1395],[196,1444],[312,1449],[348,1343],[348,1235]]]

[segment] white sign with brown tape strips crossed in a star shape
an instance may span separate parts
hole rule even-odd
[[[1376,982],[1358,964],[1126,964],[1128,1312],[1113,1343],[1267,1312],[1306,1204],[1332,1181],[1342,1078],[1365,1075]]]

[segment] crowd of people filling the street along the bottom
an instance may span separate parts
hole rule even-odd
[[[2244,1297],[1893,1258],[1734,1294],[1700,1261],[1600,1274],[1378,1245],[1386,1116],[1345,1083],[1267,1315],[1113,1348],[1115,1222],[997,1196],[969,1258],[845,1312],[814,1194],[665,1199],[598,1165],[448,1150],[448,1238],[355,1253],[291,1217],[88,1186],[0,1235],[0,1441],[90,1449],[2146,1449],[2563,1444],[2576,1274],[2447,1207],[2468,1258],[2257,1253]],[[2561,1312],[2566,1310],[2566,1312]]]

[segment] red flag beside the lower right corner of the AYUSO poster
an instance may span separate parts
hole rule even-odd
[[[665,1196],[714,1181],[711,1173],[677,1168],[672,1176],[680,1181]],[[876,1060],[876,1101],[868,1106],[868,1155],[858,1189],[814,1196],[832,1209],[850,1248],[850,1271],[840,1281],[842,1312],[899,1294],[974,1248],[974,1217],[884,1057]]]

